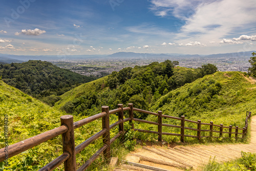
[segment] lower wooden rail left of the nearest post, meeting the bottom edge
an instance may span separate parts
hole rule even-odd
[[[70,157],[69,153],[63,153],[44,167],[40,168],[38,171],[50,171],[53,170],[54,168],[58,167],[61,163],[65,162],[68,160]]]

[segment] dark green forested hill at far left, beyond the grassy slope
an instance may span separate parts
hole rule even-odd
[[[40,60],[1,64],[0,75],[2,80],[10,86],[51,106],[60,99],[59,95],[95,79]]]

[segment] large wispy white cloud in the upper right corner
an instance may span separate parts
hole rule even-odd
[[[220,41],[254,27],[255,0],[151,0],[151,10],[157,16],[173,15],[179,33],[176,39]]]

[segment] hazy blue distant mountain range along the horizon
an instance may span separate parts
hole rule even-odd
[[[77,60],[77,59],[101,59],[101,58],[195,58],[195,57],[205,57],[205,58],[220,58],[220,57],[250,57],[251,53],[255,51],[247,52],[237,52],[237,53],[220,53],[220,54],[211,54],[211,55],[189,55],[189,54],[179,54],[179,53],[134,53],[134,52],[117,52],[111,55],[10,55],[10,54],[1,54],[0,53],[0,62],[4,63],[19,63],[25,62],[28,60]]]

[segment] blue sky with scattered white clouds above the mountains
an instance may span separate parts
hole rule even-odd
[[[213,54],[256,49],[255,0],[0,2],[0,53]]]

